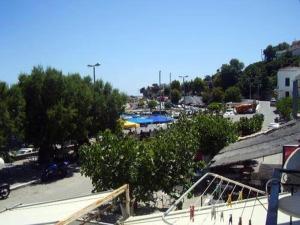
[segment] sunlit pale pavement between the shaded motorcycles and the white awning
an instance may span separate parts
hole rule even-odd
[[[14,190],[5,200],[0,200],[0,211],[16,204],[52,201],[90,194],[93,189],[89,178],[74,173],[73,176],[47,184],[34,184]]]

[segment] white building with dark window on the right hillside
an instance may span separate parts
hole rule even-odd
[[[293,81],[300,77],[300,67],[285,67],[277,72],[278,99],[293,95]]]

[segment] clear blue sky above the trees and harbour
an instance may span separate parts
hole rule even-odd
[[[41,65],[92,76],[129,95],[212,75],[267,45],[300,39],[300,0],[1,0],[0,81]]]

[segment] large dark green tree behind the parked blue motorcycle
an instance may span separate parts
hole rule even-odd
[[[79,74],[64,76],[53,68],[34,67],[19,77],[26,107],[27,142],[40,148],[39,160],[53,158],[53,145],[83,144],[100,130],[117,128],[125,96],[101,80],[94,85]]]

